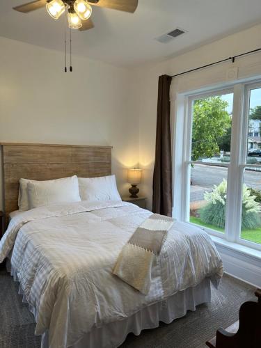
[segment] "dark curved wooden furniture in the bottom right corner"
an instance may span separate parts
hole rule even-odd
[[[260,348],[261,347],[261,289],[255,291],[258,302],[245,302],[239,310],[239,320],[219,329],[216,336],[206,342],[210,348]]]

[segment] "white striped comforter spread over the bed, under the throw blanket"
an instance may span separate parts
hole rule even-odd
[[[199,228],[175,222],[152,268],[145,296],[113,276],[118,255],[151,212],[122,202],[38,207],[15,216],[0,241],[0,262],[11,264],[35,313],[35,334],[49,330],[49,347],[74,345],[93,326],[136,313],[210,277],[223,266]]]

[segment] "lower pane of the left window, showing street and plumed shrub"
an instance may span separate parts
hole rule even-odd
[[[224,232],[228,168],[193,164],[191,166],[191,223]]]

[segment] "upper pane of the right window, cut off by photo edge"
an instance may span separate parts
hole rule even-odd
[[[248,111],[248,164],[261,164],[261,88],[250,91]]]

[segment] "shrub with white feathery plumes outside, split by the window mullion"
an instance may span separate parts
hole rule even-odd
[[[214,185],[212,192],[206,192],[204,195],[207,205],[200,209],[200,220],[204,223],[224,228],[226,219],[226,193],[227,182],[223,182],[219,186]],[[257,197],[251,193],[246,185],[243,185],[242,199],[242,230],[255,229],[260,227],[260,205],[255,200]]]

